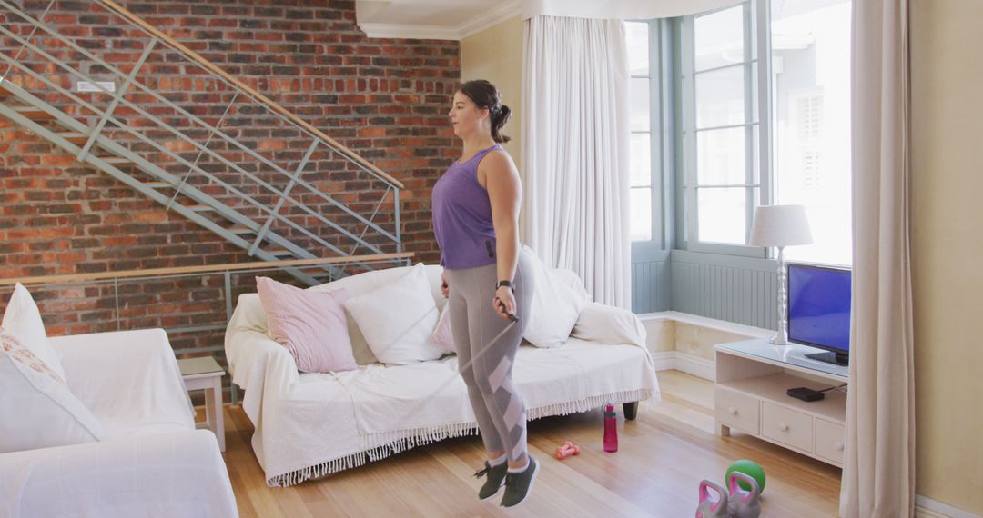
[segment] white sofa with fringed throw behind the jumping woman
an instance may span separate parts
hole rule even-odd
[[[408,268],[310,289],[344,287],[356,296],[399,279]],[[425,268],[434,302],[442,308],[441,269]],[[637,404],[632,403],[658,401],[656,371],[635,315],[589,303],[573,331],[561,347],[520,347],[513,375],[529,419],[584,412],[606,401],[626,403],[626,416],[633,418]],[[259,295],[240,295],[225,351],[232,382],[245,389],[243,408],[256,427],[253,448],[268,486],[292,486],[415,445],[477,433],[455,355],[383,365],[371,361],[351,319],[349,337],[357,370],[299,373],[293,356],[269,337]]]

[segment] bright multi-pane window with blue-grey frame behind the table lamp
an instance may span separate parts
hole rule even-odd
[[[633,239],[652,236],[658,184],[646,172],[659,167],[651,150],[661,144],[679,150],[682,247],[760,257],[746,244],[755,208],[797,203],[815,243],[786,256],[850,263],[849,2],[749,0],[678,19],[665,40],[676,62],[661,69],[642,57],[651,31],[628,24]],[[663,142],[641,115],[656,102],[640,90],[656,92],[660,75],[672,75],[678,91],[676,130]]]

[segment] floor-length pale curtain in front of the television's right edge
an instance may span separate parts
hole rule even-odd
[[[908,0],[854,0],[853,309],[839,513],[912,516]]]

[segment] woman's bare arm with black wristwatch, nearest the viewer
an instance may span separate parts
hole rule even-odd
[[[519,207],[522,204],[519,172],[505,152],[489,153],[478,169],[479,180],[484,177],[485,188],[492,202],[498,281],[513,281],[519,262]],[[515,298],[511,289],[499,287],[495,290],[495,296],[505,304],[508,313],[515,314]],[[499,310],[497,307],[495,309]]]

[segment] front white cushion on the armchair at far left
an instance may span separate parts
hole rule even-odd
[[[0,331],[0,453],[94,442],[102,427],[24,339]]]

